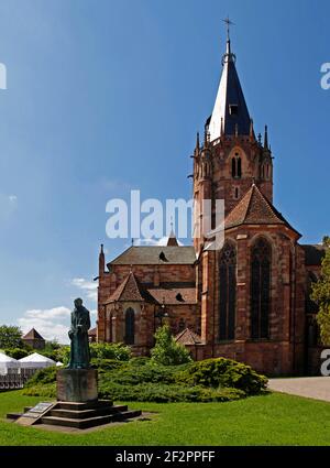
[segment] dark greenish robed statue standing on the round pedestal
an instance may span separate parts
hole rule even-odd
[[[75,309],[72,312],[72,327],[68,333],[72,340],[68,369],[89,369],[89,311],[84,307],[82,300],[77,298],[75,301]]]

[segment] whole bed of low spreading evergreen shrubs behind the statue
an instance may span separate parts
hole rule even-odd
[[[267,379],[250,366],[207,359],[180,366],[161,366],[148,358],[130,361],[94,359],[99,370],[100,398],[150,402],[223,402],[260,394]],[[36,372],[24,394],[55,396],[56,368]]]

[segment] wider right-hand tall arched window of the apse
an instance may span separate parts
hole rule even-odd
[[[251,337],[270,337],[272,249],[258,239],[251,250]]]

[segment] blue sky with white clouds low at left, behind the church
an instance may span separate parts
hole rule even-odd
[[[0,0],[0,322],[63,340],[74,297],[96,308],[99,244],[127,243],[106,238],[107,200],[190,197],[228,14],[275,206],[302,242],[330,233],[327,0]]]

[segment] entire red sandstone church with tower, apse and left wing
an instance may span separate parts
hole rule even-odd
[[[324,250],[275,208],[267,127],[255,135],[228,34],[222,75],[205,134],[194,150],[193,194],[224,200],[224,244],[132,246],[106,263],[99,254],[96,339],[147,356],[168,324],[196,360],[226,357],[267,376],[318,374],[321,345],[310,285]],[[195,213],[200,221],[202,210]],[[197,219],[198,218],[198,219]],[[215,221],[215,219],[213,219]]]

